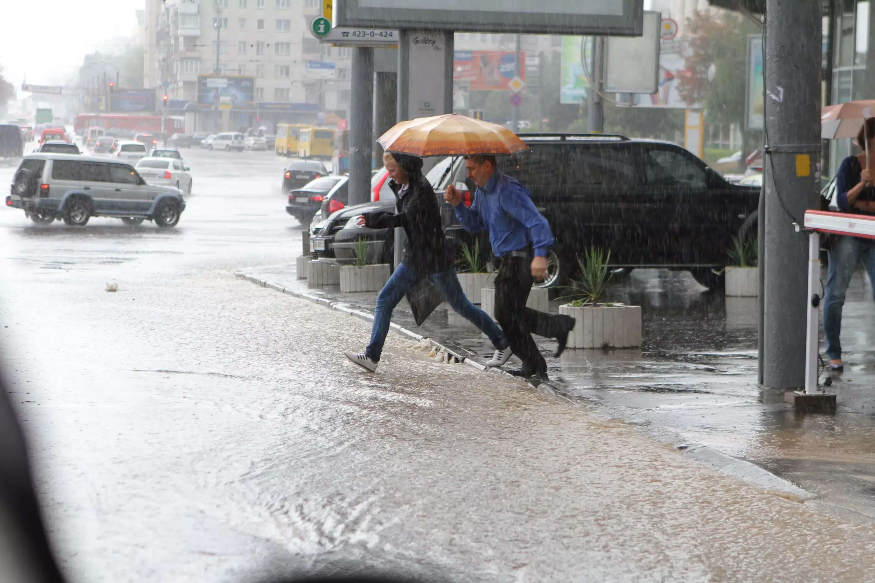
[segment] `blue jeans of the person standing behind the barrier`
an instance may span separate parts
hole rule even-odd
[[[826,354],[830,360],[842,357],[842,306],[844,294],[851,283],[851,276],[862,261],[869,282],[875,289],[875,241],[849,235],[837,235],[830,256],[830,272],[823,295],[823,335],[826,337]]]

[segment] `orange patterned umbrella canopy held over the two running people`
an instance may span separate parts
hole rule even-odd
[[[515,154],[528,149],[514,132],[458,114],[401,121],[377,140],[387,152],[413,156]]]

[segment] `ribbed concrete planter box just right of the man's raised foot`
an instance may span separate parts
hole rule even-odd
[[[559,313],[577,319],[568,348],[633,348],[641,346],[641,307],[559,306]]]

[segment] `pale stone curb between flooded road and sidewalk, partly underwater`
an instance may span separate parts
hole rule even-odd
[[[235,277],[237,279],[252,281],[253,283],[255,283],[255,285],[261,286],[262,288],[275,289],[276,291],[283,294],[294,295],[295,297],[307,300],[308,302],[320,304],[325,306],[326,308],[335,309],[349,316],[355,316],[360,320],[364,320],[365,322],[374,322],[373,314],[370,314],[361,309],[357,309],[353,307],[353,304],[333,300],[331,297],[324,294],[299,292],[294,289],[284,288],[282,285],[274,281],[269,281],[265,276],[244,273],[244,271],[241,269],[235,271]],[[438,350],[444,350],[444,352],[446,352],[447,354],[455,357],[458,363],[467,364],[477,371],[485,372],[486,374],[500,374],[506,376],[507,378],[513,378],[514,380],[518,381],[521,380],[521,378],[514,377],[514,375],[510,374],[507,371],[496,369],[491,366],[485,366],[484,364],[479,364],[478,362],[475,362],[470,358],[461,357],[453,353],[451,350],[447,349],[447,347],[445,347],[443,344],[437,342],[437,340],[434,340],[430,337],[423,337],[422,335],[416,334],[416,332],[413,332],[411,330],[407,330],[406,328],[403,328],[402,326],[394,322],[389,323],[389,330],[395,330],[395,332],[402,335],[402,337],[406,337],[409,340],[414,340],[416,342],[422,342],[423,340],[427,340],[429,344],[431,344]],[[553,386],[547,383],[535,384],[532,382],[526,382],[526,385],[535,389],[535,391],[549,394],[556,399],[560,399],[570,406],[583,406],[583,404],[579,401],[569,399],[565,395],[556,392]],[[641,425],[640,423],[636,423],[634,420],[625,421],[628,425]],[[732,477],[738,478],[742,482],[747,482],[761,489],[767,489],[769,491],[777,493],[779,496],[784,496],[800,503],[811,502],[818,498],[816,494],[809,492],[806,489],[802,489],[799,486],[796,486],[793,482],[789,482],[788,480],[785,480],[778,475],[774,475],[766,468],[761,468],[753,462],[748,462],[741,458],[724,454],[717,449],[710,448],[702,443],[698,443],[697,441],[684,441],[679,435],[673,434],[667,429],[648,429],[647,427],[639,427],[639,430],[640,433],[648,435],[648,437],[650,437],[651,439],[661,441],[662,443],[668,444],[676,448],[684,457],[690,457],[694,460],[697,460],[698,462],[704,462],[705,464],[711,466],[711,468],[715,468],[720,474],[731,475]]]

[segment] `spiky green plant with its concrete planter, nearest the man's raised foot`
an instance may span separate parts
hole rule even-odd
[[[603,302],[611,271],[611,253],[591,247],[577,257],[580,295],[559,306],[559,313],[577,319],[568,348],[633,348],[641,346],[641,307]]]

